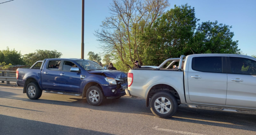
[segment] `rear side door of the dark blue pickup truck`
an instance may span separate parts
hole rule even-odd
[[[58,80],[60,60],[50,60],[42,70],[42,87],[44,90],[59,90]]]

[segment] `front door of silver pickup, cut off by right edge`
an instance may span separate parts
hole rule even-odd
[[[256,108],[256,61],[230,56],[227,64],[226,106]]]

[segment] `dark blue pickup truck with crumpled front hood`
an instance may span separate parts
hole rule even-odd
[[[128,85],[124,72],[106,70],[85,59],[44,59],[30,69],[19,68],[16,75],[17,85],[24,87],[30,99],[40,98],[44,91],[86,97],[92,106],[126,95]]]

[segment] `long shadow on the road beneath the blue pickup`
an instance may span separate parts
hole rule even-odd
[[[89,108],[93,110],[104,110],[111,112],[123,112],[123,113],[137,113],[137,114],[146,114],[154,116],[149,108],[146,108],[146,101],[142,98],[130,98],[127,96],[118,98],[118,99],[105,99],[105,101],[100,106],[91,106],[87,103],[86,98],[74,97],[74,96],[66,96],[59,95],[65,101],[57,101],[54,97],[44,97],[44,93],[41,98],[37,100],[31,100],[27,98],[26,94],[23,94],[26,98],[17,97],[15,93],[6,92],[0,90],[0,98],[8,98],[21,100],[26,102],[34,102],[34,103],[46,103],[46,104],[55,104],[61,106],[72,106],[72,107],[83,107]],[[48,94],[47,95],[52,95]],[[44,99],[43,99],[44,98]],[[46,99],[47,98],[47,99]]]

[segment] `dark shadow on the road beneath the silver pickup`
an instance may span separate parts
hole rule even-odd
[[[256,131],[255,114],[178,107],[176,114],[170,120],[202,124],[203,126],[210,125]]]

